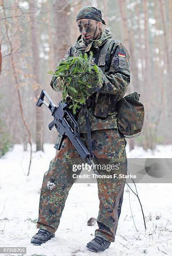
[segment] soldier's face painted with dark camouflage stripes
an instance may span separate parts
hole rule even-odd
[[[102,23],[96,20],[77,20],[77,26],[85,40],[96,40],[100,37]]]

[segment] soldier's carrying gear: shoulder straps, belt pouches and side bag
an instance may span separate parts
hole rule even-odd
[[[107,50],[112,40],[107,40],[101,50],[97,47],[97,54],[93,58],[95,64],[102,69],[103,74],[105,73]],[[86,46],[81,43],[74,51],[74,56],[78,56],[85,49]],[[95,111],[97,118],[105,119],[107,115],[113,115],[117,111],[118,129],[126,138],[134,138],[140,135],[145,111],[140,102],[140,95],[137,92],[133,92],[119,101],[114,95],[95,92],[86,103],[87,108],[92,108]]]

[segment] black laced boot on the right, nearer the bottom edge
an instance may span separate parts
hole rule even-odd
[[[105,251],[110,246],[110,242],[105,240],[104,238],[100,236],[95,236],[95,238],[87,243],[87,248],[90,251],[99,252],[99,251]]]

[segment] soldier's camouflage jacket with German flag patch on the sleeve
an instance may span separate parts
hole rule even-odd
[[[90,51],[96,55],[96,47],[101,48],[108,39],[112,38],[112,33],[103,29],[102,35],[98,40],[89,40],[85,42],[80,36],[77,39],[77,43],[70,48],[63,60],[68,56],[74,56],[75,53],[81,51],[82,53]],[[105,73],[102,73],[103,85],[102,87],[91,88],[89,93],[92,95],[94,92],[104,93],[105,95],[111,94],[120,100],[127,91],[127,87],[130,83],[130,62],[129,54],[125,46],[118,40],[111,40],[107,54],[105,57]],[[98,64],[97,64],[98,65]],[[57,77],[53,76],[51,81],[51,87],[57,92],[62,92],[62,88],[56,81]],[[109,113],[107,118],[100,119],[95,117],[92,108],[88,109],[90,118],[91,131],[112,129],[117,127],[117,112]],[[86,133],[85,115],[80,111],[78,115],[78,124],[80,126],[80,133]]]

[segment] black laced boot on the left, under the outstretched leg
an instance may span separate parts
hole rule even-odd
[[[52,237],[55,237],[55,233],[40,229],[35,236],[32,236],[30,243],[33,245],[41,245],[42,243],[46,243]]]

